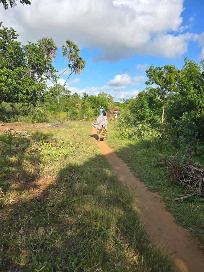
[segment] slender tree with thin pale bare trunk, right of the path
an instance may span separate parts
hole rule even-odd
[[[161,117],[161,131],[164,130],[164,110],[165,102],[169,94],[176,89],[176,74],[177,69],[175,65],[165,65],[164,67],[154,67],[152,64],[149,69],[146,70],[148,80],[145,82],[146,85],[155,85],[160,96],[163,98],[163,111]]]

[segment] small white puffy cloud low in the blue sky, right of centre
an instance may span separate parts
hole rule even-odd
[[[116,75],[113,79],[109,80],[108,85],[124,89],[124,86],[140,85],[142,80],[144,80],[144,76],[134,76],[131,78],[128,74],[121,74]]]

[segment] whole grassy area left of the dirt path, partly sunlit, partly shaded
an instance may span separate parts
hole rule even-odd
[[[90,134],[73,121],[0,151],[0,270],[172,270]]]

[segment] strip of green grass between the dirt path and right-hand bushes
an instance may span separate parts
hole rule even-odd
[[[175,154],[168,146],[164,151],[158,151],[155,146],[148,142],[134,142],[121,140],[116,137],[118,126],[112,121],[108,124],[107,143],[115,153],[124,160],[132,172],[149,190],[159,192],[163,197],[166,209],[174,216],[177,223],[187,228],[201,242],[204,250],[204,203],[199,197],[193,197],[183,202],[175,202],[178,195],[183,194],[184,188],[177,183],[170,182],[164,177],[164,166],[154,165],[159,159],[159,153],[164,155]]]

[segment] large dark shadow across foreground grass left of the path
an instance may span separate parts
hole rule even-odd
[[[41,194],[1,210],[1,269],[170,271],[133,197],[102,155],[67,164]]]

